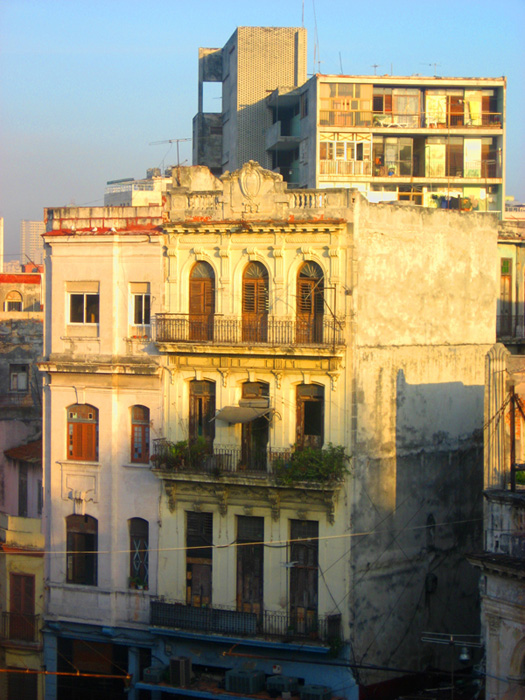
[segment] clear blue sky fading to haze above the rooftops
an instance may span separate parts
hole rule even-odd
[[[176,163],[173,145],[150,144],[191,137],[199,46],[303,17],[309,74],[315,46],[320,73],[506,76],[507,194],[525,201],[525,0],[1,0],[5,260],[20,257],[22,219],[102,205],[108,180]]]

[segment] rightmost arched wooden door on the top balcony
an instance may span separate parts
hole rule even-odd
[[[297,343],[323,340],[324,277],[319,265],[305,262],[297,276]]]

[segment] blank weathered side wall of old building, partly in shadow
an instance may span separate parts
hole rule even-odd
[[[475,633],[484,357],[496,224],[358,201],[351,614],[358,661],[447,665],[426,630]],[[445,654],[445,655],[443,655]],[[369,681],[384,676],[363,674]]]

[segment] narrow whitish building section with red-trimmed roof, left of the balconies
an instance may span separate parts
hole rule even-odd
[[[152,648],[145,590],[156,589],[160,525],[149,446],[162,434],[162,370],[151,319],[162,303],[162,216],[148,206],[46,218],[45,697],[123,698],[128,669],[138,677]]]

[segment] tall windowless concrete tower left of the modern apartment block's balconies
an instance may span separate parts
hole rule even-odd
[[[306,29],[238,27],[222,49],[199,49],[199,106],[193,120],[193,163],[214,174],[248,160],[271,167],[266,98],[277,87],[306,80]],[[222,109],[203,111],[204,83],[222,83]]]

